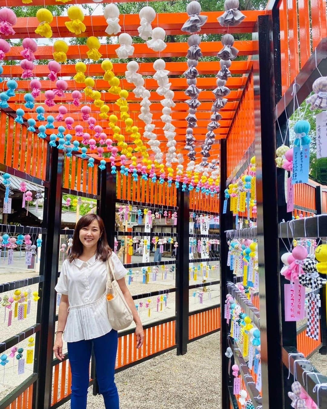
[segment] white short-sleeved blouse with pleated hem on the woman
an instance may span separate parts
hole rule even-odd
[[[115,279],[122,279],[127,270],[114,252],[111,258]],[[106,263],[96,260],[95,255],[88,261],[76,258],[72,263],[68,260],[63,262],[55,290],[68,295],[69,313],[64,341],[97,338],[112,330],[108,320],[106,282]]]

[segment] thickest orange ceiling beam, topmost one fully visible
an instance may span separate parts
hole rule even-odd
[[[10,5],[13,0],[11,0]],[[44,3],[43,3],[44,4]],[[20,4],[21,6],[22,4]],[[201,34],[224,34],[229,33],[251,33],[259,15],[264,14],[264,11],[244,11],[245,19],[237,27],[221,27],[217,18],[222,15],[222,11],[208,11],[204,13],[208,16],[206,24],[201,29]],[[158,13],[155,19],[155,25],[165,29],[167,35],[182,35],[181,27],[188,19],[186,13]],[[72,37],[72,33],[65,26],[65,22],[69,21],[68,17],[54,17],[51,28],[53,38]],[[125,14],[120,16],[120,22],[123,23],[125,31],[131,36],[139,36],[137,28],[140,25],[139,16],[137,14]],[[84,33],[78,37],[103,37],[106,36],[105,29],[107,22],[104,16],[85,16],[83,23],[86,26]],[[20,17],[17,19],[16,25],[13,26],[15,34],[11,38],[38,38],[35,29],[38,27],[38,20],[36,17]],[[154,25],[154,26],[155,26]],[[3,34],[1,38],[6,38]]]

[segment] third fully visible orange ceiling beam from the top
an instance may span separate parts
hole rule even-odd
[[[116,75],[125,75],[127,63],[114,63],[113,69]],[[232,74],[245,74],[252,68],[252,61],[233,61],[231,65]],[[166,70],[170,71],[170,75],[182,75],[187,69],[186,63],[166,63]],[[200,75],[216,74],[220,69],[218,61],[200,61],[197,70]],[[103,76],[101,64],[89,64],[85,72],[86,76]],[[153,75],[155,70],[153,63],[141,63],[139,73],[142,75]],[[36,65],[34,69],[35,76],[46,77],[49,74],[47,65]],[[65,64],[61,65],[61,76],[74,76],[76,74],[75,65]],[[2,77],[20,77],[22,69],[19,65],[4,65]]]

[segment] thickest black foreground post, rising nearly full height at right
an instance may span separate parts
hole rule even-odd
[[[259,72],[255,72],[255,113],[260,121],[256,121],[255,127],[255,157],[262,407],[267,409],[283,407],[272,30],[271,16],[259,16]]]

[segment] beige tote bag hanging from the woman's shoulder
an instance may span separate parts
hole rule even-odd
[[[114,277],[111,257],[107,263],[106,299],[108,319],[112,328],[119,331],[128,327],[133,321],[133,315]]]

